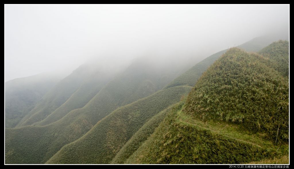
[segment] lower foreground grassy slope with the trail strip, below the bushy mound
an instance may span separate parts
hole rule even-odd
[[[174,111],[124,163],[126,164],[239,164],[288,153],[262,134],[242,131],[237,124],[203,122]]]

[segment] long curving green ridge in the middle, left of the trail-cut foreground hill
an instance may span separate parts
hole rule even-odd
[[[188,86],[163,89],[113,111],[85,136],[64,146],[47,163],[109,163],[143,124],[190,90]]]

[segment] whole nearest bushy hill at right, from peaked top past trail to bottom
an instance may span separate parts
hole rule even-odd
[[[182,110],[124,163],[248,163],[288,154],[289,86],[277,65],[230,49],[198,80]]]

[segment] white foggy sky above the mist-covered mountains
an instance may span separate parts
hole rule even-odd
[[[5,5],[5,81],[144,52],[207,57],[289,31],[289,5]]]

